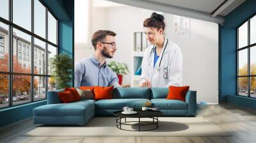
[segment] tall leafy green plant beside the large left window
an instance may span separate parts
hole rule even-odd
[[[52,77],[51,82],[56,82],[56,88],[70,87],[72,81],[72,59],[67,54],[59,54],[51,59]],[[51,83],[53,84],[53,83]]]

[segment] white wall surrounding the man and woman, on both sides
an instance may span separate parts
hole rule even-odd
[[[132,64],[134,31],[143,31],[143,20],[152,11],[131,6],[92,9],[92,33],[99,29],[115,31],[118,50],[113,59]],[[179,45],[183,54],[183,84],[197,91],[197,102],[218,103],[218,25],[191,19],[189,37],[173,33],[173,15],[164,14],[166,36]],[[77,50],[78,49],[78,50]],[[75,59],[91,56],[93,48],[77,48]],[[131,75],[125,75],[124,84],[131,84]]]

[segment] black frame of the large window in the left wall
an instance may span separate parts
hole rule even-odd
[[[0,110],[1,109],[6,109],[6,108],[10,108],[10,107],[15,107],[15,106],[19,106],[19,105],[24,105],[24,104],[28,104],[28,103],[31,103],[31,102],[39,102],[39,101],[42,101],[42,100],[47,100],[47,91],[48,91],[48,80],[49,80],[49,77],[51,77],[51,75],[48,74],[48,69],[46,68],[45,70],[45,73],[42,73],[42,74],[36,74],[34,73],[34,48],[35,48],[35,44],[34,44],[34,38],[37,38],[38,40],[41,40],[41,41],[44,41],[45,42],[45,67],[48,66],[48,56],[47,56],[47,52],[48,52],[48,44],[49,45],[52,45],[53,47],[56,47],[57,49],[57,53],[56,55],[59,54],[59,44],[58,44],[58,33],[59,33],[59,29],[58,29],[58,23],[59,23],[59,19],[56,17],[56,15],[54,15],[54,13],[51,11],[50,8],[48,8],[46,6],[46,4],[42,1],[42,0],[38,0],[43,6],[45,6],[45,38],[39,36],[38,34],[35,34],[34,32],[34,15],[35,15],[35,10],[34,10],[34,1],[35,0],[31,0],[31,31],[13,23],[13,0],[9,0],[8,1],[8,6],[9,6],[9,11],[8,11],[8,20],[4,19],[3,17],[0,17],[0,22],[2,22],[3,24],[6,24],[8,25],[8,54],[9,54],[9,70],[8,72],[1,72],[0,71],[0,74],[3,74],[3,75],[8,75],[8,98],[9,98],[9,103],[8,103],[8,106],[6,107],[0,107]],[[56,44],[52,43],[51,41],[48,40],[48,11],[49,13],[51,13],[51,15],[54,17],[54,19],[56,19]],[[17,73],[17,72],[13,72],[13,28],[23,32],[23,33],[26,33],[26,34],[29,34],[31,36],[31,51],[30,54],[29,54],[29,61],[31,61],[31,72],[30,73]],[[19,41],[17,41],[19,42]],[[18,45],[18,43],[17,43]],[[26,46],[27,47],[27,46]],[[26,50],[26,47],[25,47],[25,51],[23,52],[23,44],[21,45],[21,50],[19,50],[19,47],[17,46],[17,52],[21,52],[22,54],[23,53],[27,53],[27,50]],[[17,55],[18,56],[18,55]],[[17,57],[19,58],[19,57]],[[22,57],[23,58],[23,57]],[[27,60],[26,60],[27,61]],[[20,103],[20,104],[17,104],[17,105],[13,105],[13,92],[12,92],[12,88],[13,88],[13,75],[29,75],[30,78],[31,78],[31,86],[30,86],[30,96],[31,96],[31,99],[28,100],[28,102],[26,103]],[[34,79],[36,77],[45,77],[45,98],[44,99],[40,99],[40,100],[35,100],[35,94],[34,94]]]

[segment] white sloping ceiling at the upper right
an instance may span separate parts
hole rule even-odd
[[[245,0],[108,0],[149,10],[223,24],[224,17]],[[225,3],[224,3],[225,2]],[[221,3],[224,3],[222,6]],[[220,6],[220,8],[218,8]],[[214,10],[218,8],[215,13]]]

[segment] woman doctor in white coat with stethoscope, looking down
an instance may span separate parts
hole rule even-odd
[[[143,22],[152,47],[148,47],[143,56],[140,87],[181,86],[182,53],[175,43],[164,37],[163,20],[163,15],[154,12]]]

